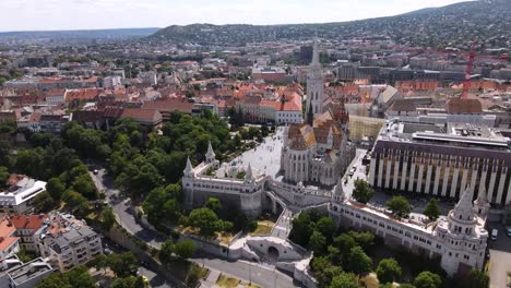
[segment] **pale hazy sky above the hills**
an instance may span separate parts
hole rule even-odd
[[[0,0],[0,31],[166,27],[192,23],[324,23],[463,0]]]

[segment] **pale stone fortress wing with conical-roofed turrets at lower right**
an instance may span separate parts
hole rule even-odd
[[[397,219],[388,211],[349,200],[337,183],[330,216],[340,225],[369,230],[382,237],[385,244],[401,245],[414,253],[439,259],[452,276],[482,269],[485,262],[488,231],[485,229],[488,202],[485,191],[473,200],[470,187],[448,216],[425,223],[421,218]]]

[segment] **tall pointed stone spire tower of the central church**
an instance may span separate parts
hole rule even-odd
[[[324,80],[323,70],[319,59],[318,40],[314,39],[312,62],[307,74],[307,122],[311,122],[310,115],[314,117],[323,112]]]

